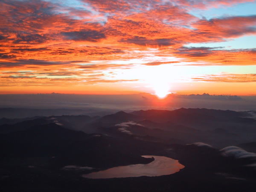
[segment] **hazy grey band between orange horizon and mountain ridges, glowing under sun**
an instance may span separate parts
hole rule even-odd
[[[225,96],[169,94],[157,99],[148,93],[133,95],[16,94],[0,95],[0,118],[33,116],[89,115],[104,116],[118,111],[150,109],[208,108],[253,111],[256,96]]]

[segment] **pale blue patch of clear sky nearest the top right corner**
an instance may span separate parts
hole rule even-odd
[[[207,20],[216,17],[256,15],[256,1],[251,3],[240,3],[235,6],[221,6],[205,10],[193,9],[189,11],[189,13],[199,18],[206,18]]]

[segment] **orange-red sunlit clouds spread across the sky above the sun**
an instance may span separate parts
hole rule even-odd
[[[256,15],[206,19],[191,12],[246,2],[253,0],[2,0],[0,86],[137,81],[111,71],[140,64],[254,65],[255,49],[189,47],[256,35]],[[145,57],[153,59],[135,61]],[[234,76],[191,81],[255,81]]]

